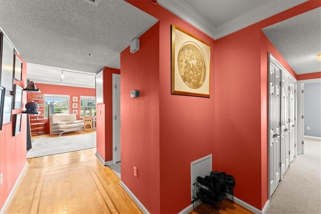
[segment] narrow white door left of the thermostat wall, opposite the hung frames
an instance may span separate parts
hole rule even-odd
[[[113,74],[113,162],[120,161],[120,75]]]

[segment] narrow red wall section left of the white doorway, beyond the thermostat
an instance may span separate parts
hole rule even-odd
[[[103,70],[104,103],[97,104],[97,153],[105,162],[112,160],[112,74],[120,74],[119,69]],[[99,114],[99,110],[101,114]]]

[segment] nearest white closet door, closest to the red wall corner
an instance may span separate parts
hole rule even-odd
[[[280,70],[269,65],[269,182],[270,195],[280,180]]]

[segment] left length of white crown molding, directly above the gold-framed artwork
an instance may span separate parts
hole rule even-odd
[[[184,3],[182,0],[158,0],[158,5],[172,12],[182,20],[190,23],[211,38],[215,39],[216,28],[207,19],[197,13],[194,9]]]

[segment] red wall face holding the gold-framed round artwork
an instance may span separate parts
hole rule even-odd
[[[209,44],[211,56],[215,50],[214,41],[163,7],[146,1],[128,2],[159,20],[160,212],[177,213],[191,203],[191,162],[214,151],[215,75],[214,58],[211,58],[210,98],[171,95],[171,25],[183,28]],[[149,70],[146,68],[145,73]],[[122,124],[123,120],[122,117]]]

